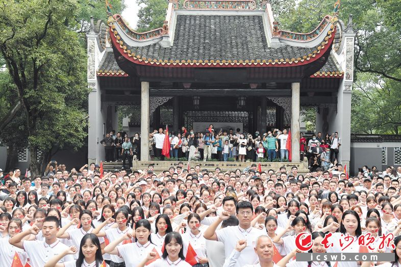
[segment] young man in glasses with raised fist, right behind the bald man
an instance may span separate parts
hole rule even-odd
[[[218,219],[213,222],[205,231],[205,238],[208,240],[220,241],[224,244],[225,257],[228,258],[231,252],[235,249],[238,240],[246,240],[247,246],[239,255],[235,267],[243,267],[246,264],[254,264],[258,259],[254,246],[256,239],[260,235],[266,235],[266,232],[256,229],[250,225],[253,215],[252,204],[248,201],[241,201],[237,204],[236,212],[239,221],[238,226],[228,226],[216,231],[216,228],[221,221],[230,218],[230,213],[227,211],[221,212]]]

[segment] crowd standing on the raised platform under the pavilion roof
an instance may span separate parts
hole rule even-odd
[[[239,128],[230,128],[217,132],[210,124],[204,132],[187,130],[184,126],[180,132],[168,133],[170,143],[170,158],[186,158],[187,160],[207,161],[216,159],[227,162],[261,162],[261,161],[288,161],[289,149],[287,146],[288,130],[273,129],[260,134],[241,132]],[[164,128],[155,129],[149,134],[149,155],[151,161],[164,160],[163,145],[166,140]],[[334,165],[338,158],[341,139],[338,132],[332,135],[327,133],[324,137],[321,132],[312,135],[308,140],[300,133],[300,158],[308,158],[310,169],[322,168],[327,170]],[[113,130],[100,142],[105,146],[106,162],[123,160],[124,167],[126,159],[131,167],[132,159],[140,159],[140,136],[135,133],[134,137],[128,137],[126,132],[118,132],[115,136]]]

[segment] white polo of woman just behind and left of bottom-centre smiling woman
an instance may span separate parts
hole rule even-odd
[[[124,259],[126,266],[135,267],[141,262],[153,249],[156,249],[160,257],[162,255],[161,250],[148,241],[146,244],[141,245],[138,242],[129,243],[117,246],[118,253]]]

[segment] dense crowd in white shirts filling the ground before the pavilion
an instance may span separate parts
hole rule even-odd
[[[44,176],[0,172],[1,267],[16,255],[32,267],[362,263],[297,262],[301,232],[312,234],[315,253],[361,251],[365,233],[373,237],[369,251],[377,251],[380,236],[391,233],[395,248],[382,250],[396,253],[395,262],[372,264],[401,264],[401,167],[364,166],[351,177],[338,163],[307,174],[295,166],[208,171],[182,162],[162,172],[153,165],[132,173],[100,173],[95,164],[66,169],[52,161]],[[333,246],[326,249],[328,233]],[[343,235],[354,238],[345,249]]]

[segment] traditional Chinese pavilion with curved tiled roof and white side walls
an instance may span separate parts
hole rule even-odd
[[[299,162],[299,114],[309,106],[317,129],[339,132],[339,157],[349,162],[352,18],[345,26],[335,12],[294,33],[280,29],[268,2],[171,1],[161,28],[137,33],[110,11],[87,35],[90,162],[104,158],[98,142],[117,128],[122,106],[133,111],[145,161],[148,133],[159,125],[220,123],[251,133],[289,127]]]

